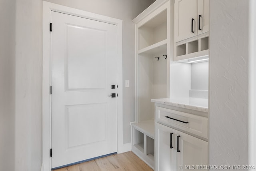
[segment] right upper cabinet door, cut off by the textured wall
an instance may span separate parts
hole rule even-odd
[[[202,34],[208,31],[209,31],[209,0],[198,0],[198,34]]]

